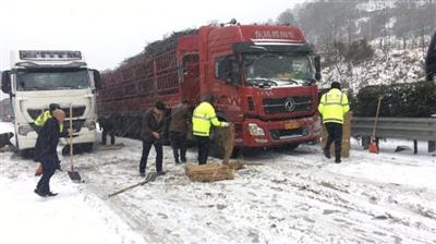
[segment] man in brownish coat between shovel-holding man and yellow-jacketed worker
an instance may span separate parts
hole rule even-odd
[[[186,162],[186,134],[190,119],[191,112],[186,99],[171,110],[170,139],[175,163]]]

